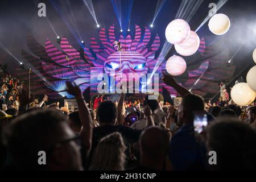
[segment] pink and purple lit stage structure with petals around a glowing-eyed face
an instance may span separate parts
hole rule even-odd
[[[145,27],[135,26],[135,34],[117,38],[114,25],[106,32],[101,28],[99,40],[91,38],[90,47],[81,46],[77,50],[69,44],[67,38],[61,38],[61,51],[53,46],[49,39],[45,47],[40,45],[33,36],[28,36],[27,46],[34,55],[22,50],[22,56],[32,65],[31,92],[32,94],[47,94],[48,97],[58,99],[63,96],[72,98],[65,90],[66,81],[75,81],[82,92],[97,93],[97,75],[110,73],[152,73],[159,57],[156,51],[160,47],[160,38],[156,34],[151,40],[151,32]],[[122,52],[115,48],[115,41],[122,45]],[[218,45],[218,46],[216,46]],[[218,82],[233,76],[234,65],[228,65],[229,51],[219,42],[205,45],[205,39],[200,39],[200,47],[193,56],[183,57],[187,63],[187,70],[183,75],[176,76],[176,80],[193,93],[205,96],[207,93],[219,91]],[[120,57],[121,65],[120,68]],[[162,61],[155,73],[162,77],[162,70],[166,68],[166,60]],[[20,78],[28,81],[28,73],[24,69],[17,71]],[[154,85],[153,85],[154,86]],[[171,96],[176,91],[159,80],[159,92],[166,89]],[[63,92],[61,92],[63,91]]]

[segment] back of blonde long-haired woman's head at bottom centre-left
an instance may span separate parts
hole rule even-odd
[[[91,171],[121,171],[125,166],[125,149],[122,135],[112,133],[100,140],[94,152]]]

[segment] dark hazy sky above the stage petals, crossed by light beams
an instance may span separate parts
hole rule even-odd
[[[54,30],[59,36],[66,36],[75,47],[79,47],[79,34],[84,40],[86,46],[89,46],[91,36],[98,36],[99,28],[96,27],[92,16],[84,5],[82,0],[70,1],[71,9],[75,17],[75,22],[79,29],[79,34],[76,32],[72,22],[71,11],[64,11],[64,7],[68,9],[67,1],[40,1],[46,3],[46,15],[51,22]],[[112,24],[119,27],[119,22],[113,8],[113,2],[110,0],[92,0],[94,10],[97,16],[98,23],[101,27],[108,28]],[[131,32],[134,31],[134,25],[138,24],[141,27],[149,26],[155,13],[156,0],[115,0],[118,3],[118,11],[122,13],[122,29],[123,34],[127,32],[128,21],[130,20]],[[205,0],[196,14],[192,17],[189,25],[191,30],[196,30],[199,24],[207,16],[209,3],[217,1]],[[52,40],[56,45],[56,34],[47,22],[46,18],[38,16],[38,3],[33,0],[27,1],[3,1],[0,2],[0,42],[10,50],[10,52],[18,59],[26,64],[26,60],[20,55],[21,49],[31,53],[26,45],[28,34],[32,34],[44,46],[47,38]],[[155,20],[154,27],[151,28],[152,37],[158,33],[161,39],[162,49],[165,41],[165,28],[171,20],[175,19],[177,10],[179,9],[181,0],[167,0],[163,8],[160,10],[158,17]],[[214,42],[217,39],[224,39],[226,46],[230,50],[230,58],[234,55],[237,48],[241,46],[240,51],[234,56],[232,64],[236,64],[236,76],[247,64],[253,65],[252,52],[256,47],[256,13],[255,1],[237,1],[229,0],[221,7],[217,13],[224,13],[229,16],[231,27],[227,34],[222,36],[213,35],[207,26],[208,22],[197,32],[201,37],[208,37],[207,44]],[[130,15],[129,15],[130,14]],[[118,34],[121,32],[118,31]],[[117,35],[118,36],[118,35]],[[174,53],[174,47],[168,53],[170,57]],[[3,49],[0,49],[1,63],[9,64],[9,71],[15,73],[15,68],[19,67],[18,61],[14,57],[7,54]],[[247,71],[243,72],[243,76]]]

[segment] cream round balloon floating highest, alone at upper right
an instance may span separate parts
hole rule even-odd
[[[209,20],[209,29],[215,35],[224,35],[230,27],[229,17],[225,14],[213,15]]]

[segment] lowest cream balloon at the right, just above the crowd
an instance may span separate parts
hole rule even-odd
[[[231,98],[237,105],[247,106],[255,100],[256,93],[247,83],[238,83],[231,89]]]

